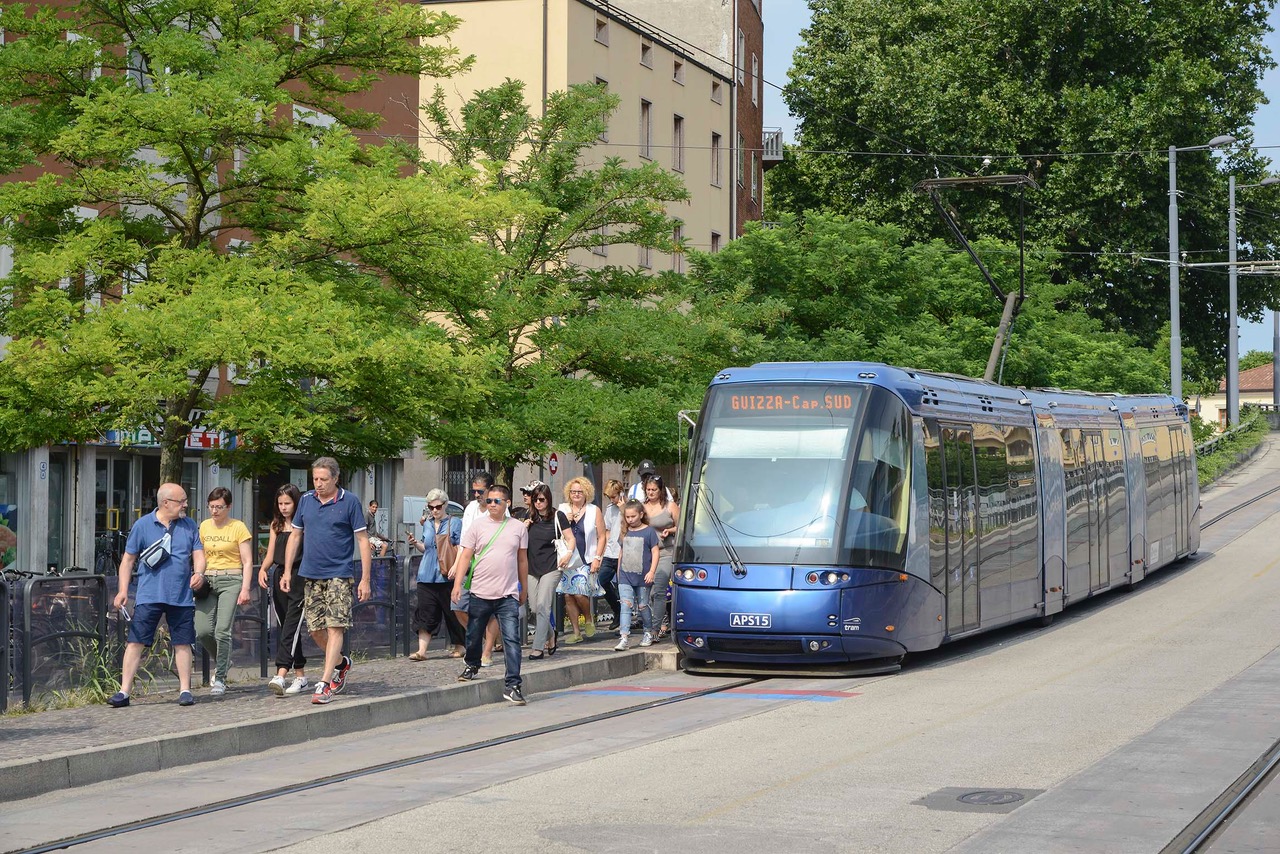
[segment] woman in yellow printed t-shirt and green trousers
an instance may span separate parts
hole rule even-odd
[[[227,693],[227,672],[232,668],[232,621],[236,606],[248,604],[248,585],[253,577],[253,535],[238,519],[230,517],[232,492],[215,487],[209,493],[209,513],[200,524],[200,543],[205,548],[205,579],[196,588],[196,640],[218,662],[210,695]]]

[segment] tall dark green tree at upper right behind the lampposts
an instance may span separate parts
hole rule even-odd
[[[1233,133],[1242,146],[1178,160],[1181,248],[1225,261],[1226,173],[1258,181],[1245,147],[1274,65],[1263,45],[1270,0],[810,0],[786,99],[800,151],[771,173],[777,206],[893,223],[913,241],[943,234],[924,178],[1019,173],[1032,252],[1053,259],[1074,305],[1153,346],[1169,320],[1169,145]],[[1094,154],[1121,152],[1121,154]],[[970,237],[1015,239],[1018,196],[948,192]],[[1242,238],[1271,257],[1280,197],[1252,191]],[[1155,259],[1155,260],[1151,260]],[[1240,287],[1257,319],[1280,296],[1270,279]],[[1226,277],[1183,275],[1183,337],[1217,375],[1225,353]],[[1215,365],[1219,367],[1215,369]]]

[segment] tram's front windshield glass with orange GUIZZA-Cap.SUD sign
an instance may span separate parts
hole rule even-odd
[[[901,570],[909,425],[874,385],[713,388],[677,560]]]

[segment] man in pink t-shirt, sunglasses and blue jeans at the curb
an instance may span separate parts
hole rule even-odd
[[[503,657],[507,666],[503,698],[525,704],[520,680],[520,606],[529,590],[529,529],[507,513],[511,490],[495,485],[485,497],[485,516],[477,517],[462,535],[462,552],[454,572],[453,600],[467,603],[466,667],[460,682],[470,682],[480,672],[480,652],[485,626],[497,618],[502,629]]]

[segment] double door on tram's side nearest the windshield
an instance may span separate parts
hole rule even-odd
[[[947,632],[978,627],[978,490],[973,465],[973,430],[942,425],[947,501]]]

